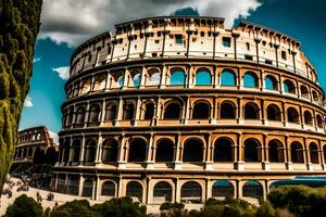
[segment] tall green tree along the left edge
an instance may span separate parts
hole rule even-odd
[[[0,0],[0,190],[14,155],[42,0]]]

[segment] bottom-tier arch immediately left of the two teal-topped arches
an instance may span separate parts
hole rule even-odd
[[[196,181],[188,181],[181,187],[181,202],[200,203],[201,186]]]

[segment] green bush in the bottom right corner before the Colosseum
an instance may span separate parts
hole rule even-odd
[[[274,208],[288,208],[297,217],[326,213],[326,188],[279,187],[267,199]]]

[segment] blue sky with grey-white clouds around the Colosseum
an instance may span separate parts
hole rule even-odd
[[[325,0],[43,0],[34,74],[20,128],[46,125],[53,133],[60,131],[70,55],[82,41],[114,31],[120,22],[175,12],[225,17],[228,28],[247,20],[298,38],[325,89]]]

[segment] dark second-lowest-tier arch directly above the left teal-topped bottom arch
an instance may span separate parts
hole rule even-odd
[[[228,138],[220,138],[214,144],[214,162],[233,162],[233,142]]]

